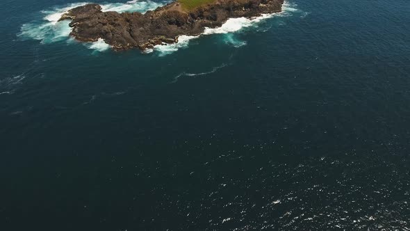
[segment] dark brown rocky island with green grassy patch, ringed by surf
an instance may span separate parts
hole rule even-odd
[[[199,35],[206,27],[222,26],[232,17],[279,13],[284,0],[177,0],[147,13],[103,12],[98,4],[72,8],[60,20],[71,19],[70,35],[81,42],[103,39],[113,49],[178,42],[180,35]]]

